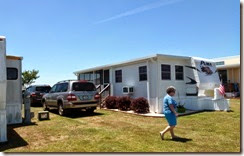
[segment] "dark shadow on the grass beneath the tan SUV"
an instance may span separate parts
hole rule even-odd
[[[50,109],[49,112],[59,115],[57,109]],[[86,111],[81,111],[81,110],[72,110],[72,111],[68,111],[65,117],[82,118],[82,117],[100,116],[100,115],[104,115],[104,113],[98,113],[98,112],[88,113]]]

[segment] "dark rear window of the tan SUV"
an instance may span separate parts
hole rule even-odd
[[[75,82],[72,86],[73,91],[95,91],[95,85],[89,82]]]

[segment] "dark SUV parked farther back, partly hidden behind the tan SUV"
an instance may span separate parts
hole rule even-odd
[[[31,105],[40,104],[44,94],[50,91],[51,87],[49,85],[32,85],[26,88],[24,92],[25,101],[26,98],[30,98]]]

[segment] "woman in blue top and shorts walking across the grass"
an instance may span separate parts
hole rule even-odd
[[[173,96],[175,95],[175,91],[176,90],[173,86],[168,87],[166,90],[167,95],[164,97],[163,100],[164,115],[169,125],[162,132],[160,132],[160,136],[162,140],[164,140],[164,134],[167,132],[170,132],[172,139],[178,138],[174,134],[174,128],[177,125],[177,116],[178,116],[178,113],[175,110],[177,103],[173,99]]]

